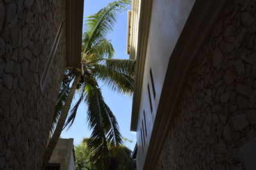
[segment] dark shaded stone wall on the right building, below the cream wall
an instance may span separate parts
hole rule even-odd
[[[244,169],[256,136],[256,1],[228,1],[191,66],[155,169]]]

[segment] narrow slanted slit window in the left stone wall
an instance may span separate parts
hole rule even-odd
[[[48,76],[48,73],[49,73],[49,69],[51,68],[52,60],[54,59],[54,54],[55,54],[55,52],[57,50],[57,47],[58,47],[58,43],[59,43],[59,40],[60,40],[62,28],[63,28],[63,22],[61,22],[59,30],[57,32],[57,35],[56,35],[56,37],[54,39],[50,55],[48,57],[46,66],[44,68],[43,75],[42,75],[41,80],[40,80],[41,90],[44,89],[45,81],[47,79],[47,76]]]

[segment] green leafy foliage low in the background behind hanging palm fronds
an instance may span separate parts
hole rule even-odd
[[[76,169],[77,170],[96,170],[102,169],[97,165],[97,162],[92,159],[90,153],[90,138],[84,138],[80,145],[75,146],[76,154]],[[109,149],[109,166],[106,169],[111,170],[132,170],[136,169],[136,162],[131,158],[131,150],[124,145],[111,146],[108,143]]]

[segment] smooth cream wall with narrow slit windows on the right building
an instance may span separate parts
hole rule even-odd
[[[143,74],[143,85],[141,89],[140,113],[137,124],[137,167],[142,169],[147,153],[150,134],[156,117],[156,110],[159,103],[159,97],[163,87],[166,69],[173,52],[180,32],[186,23],[191,8],[195,1],[191,0],[154,0],[152,3],[152,14],[150,21],[150,30],[148,34],[147,55],[145,59],[145,69]],[[138,56],[140,57],[140,56]],[[150,67],[154,78],[154,86],[156,89],[156,98],[154,99],[152,85],[150,80]],[[148,99],[148,85],[150,87],[150,95],[152,99],[152,113]],[[143,111],[145,110],[145,119],[147,122],[147,138],[145,136],[145,146],[141,144],[141,125]],[[144,129],[145,131],[145,129]]]

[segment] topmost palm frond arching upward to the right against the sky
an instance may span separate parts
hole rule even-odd
[[[129,0],[114,1],[94,15],[87,17],[85,27],[86,43],[84,44],[83,55],[90,47],[99,43],[101,39],[105,39],[113,31],[118,13],[126,10],[129,3],[131,3]]]

